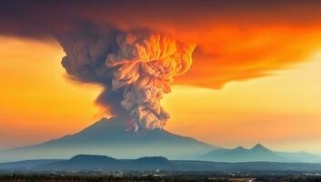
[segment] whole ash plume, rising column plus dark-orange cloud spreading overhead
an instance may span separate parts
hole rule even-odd
[[[173,76],[174,84],[219,88],[319,51],[320,8],[298,0],[4,1],[0,34],[54,37],[71,78],[105,86],[99,104],[154,128],[168,118],[159,103]]]

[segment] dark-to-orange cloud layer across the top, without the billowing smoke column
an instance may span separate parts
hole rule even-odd
[[[93,31],[154,31],[196,44],[195,62],[177,84],[217,88],[270,75],[317,51],[320,7],[320,1],[312,0],[14,0],[0,7],[0,34],[35,38],[80,34],[85,39]],[[79,29],[84,31],[75,33]]]

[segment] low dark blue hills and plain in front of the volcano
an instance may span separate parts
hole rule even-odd
[[[223,163],[191,160],[168,160],[166,157],[141,157],[138,159],[116,159],[106,156],[78,155],[66,160],[52,161],[51,163],[26,166],[23,164],[10,171],[15,173],[57,173],[57,172],[80,172],[82,171],[212,171],[212,172],[260,172],[288,173],[288,172],[321,172],[321,164],[311,163],[277,163],[277,162],[245,162],[245,163]],[[22,164],[22,163],[20,163]],[[8,166],[9,164],[6,163]],[[3,164],[0,163],[0,166]],[[1,168],[2,171],[10,168]],[[297,174],[297,173],[296,173]]]

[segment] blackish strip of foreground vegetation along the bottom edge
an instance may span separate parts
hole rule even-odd
[[[1,175],[0,182],[318,182],[320,176],[210,176],[210,175],[172,175],[156,176],[82,176],[82,175]]]

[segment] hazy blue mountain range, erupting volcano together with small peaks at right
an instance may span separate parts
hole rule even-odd
[[[0,162],[61,159],[79,154],[117,158],[163,156],[216,162],[321,162],[321,157],[306,152],[277,152],[256,144],[251,148],[215,147],[192,137],[172,134],[165,129],[133,131],[125,119],[102,118],[73,135],[62,136],[41,144],[0,151]]]

